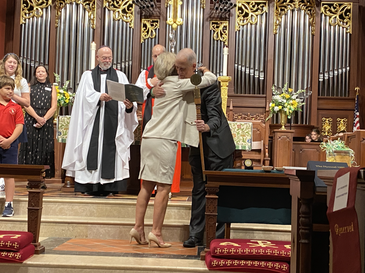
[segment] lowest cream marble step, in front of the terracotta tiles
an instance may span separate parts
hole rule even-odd
[[[23,264],[2,264],[6,273],[208,273],[197,259],[34,255]]]

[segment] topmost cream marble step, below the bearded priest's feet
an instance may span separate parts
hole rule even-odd
[[[5,200],[4,200],[5,202]],[[2,201],[0,200],[0,203]],[[102,218],[134,218],[136,199],[113,200],[73,197],[43,197],[42,215],[45,216],[74,216]],[[14,209],[17,215],[26,215],[28,207],[27,196],[14,197]],[[169,201],[166,219],[190,220],[191,202]],[[153,201],[150,201],[146,219],[153,218]]]

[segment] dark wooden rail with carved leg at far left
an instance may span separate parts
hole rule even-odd
[[[45,182],[46,169],[49,169],[49,166],[0,164],[0,177],[20,178],[28,181],[28,232],[33,234],[32,245],[35,246],[35,254],[45,252],[45,247],[39,243],[39,231],[44,192],[41,189],[41,183]]]

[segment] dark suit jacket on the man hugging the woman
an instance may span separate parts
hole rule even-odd
[[[222,98],[218,82],[200,89],[201,119],[208,124],[210,132],[203,132],[203,143],[220,158],[226,158],[236,149],[227,118],[222,111]],[[204,145],[203,145],[204,146]]]

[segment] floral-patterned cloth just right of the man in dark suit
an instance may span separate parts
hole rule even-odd
[[[251,150],[252,122],[228,122],[236,150]]]

